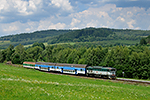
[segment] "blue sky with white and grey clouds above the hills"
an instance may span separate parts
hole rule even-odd
[[[150,30],[150,0],[0,0],[0,37],[87,27]]]

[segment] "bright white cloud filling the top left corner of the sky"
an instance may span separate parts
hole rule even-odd
[[[20,15],[31,15],[41,7],[42,0],[1,0],[0,12],[18,12]]]

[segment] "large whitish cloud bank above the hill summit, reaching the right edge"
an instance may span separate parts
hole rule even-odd
[[[144,18],[144,17],[145,18]],[[104,5],[99,8],[89,8],[70,17],[79,20],[75,27],[109,27],[147,29],[150,25],[149,10],[139,7],[116,7],[114,4]],[[140,21],[142,20],[142,21]],[[71,22],[70,25],[74,25]]]

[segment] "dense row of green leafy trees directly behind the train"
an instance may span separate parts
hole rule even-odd
[[[29,48],[10,45],[0,51],[0,62],[12,61],[22,64],[24,61],[88,64],[117,69],[117,76],[150,79],[150,50],[147,46],[78,47],[72,45],[48,45],[34,43]]]

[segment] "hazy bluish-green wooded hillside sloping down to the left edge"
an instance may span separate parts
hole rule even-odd
[[[54,36],[70,32],[72,30],[43,30],[33,33],[22,33],[17,35],[8,35],[0,37],[0,49],[7,48],[10,44],[17,46],[19,44],[28,45],[35,42],[47,42]]]

